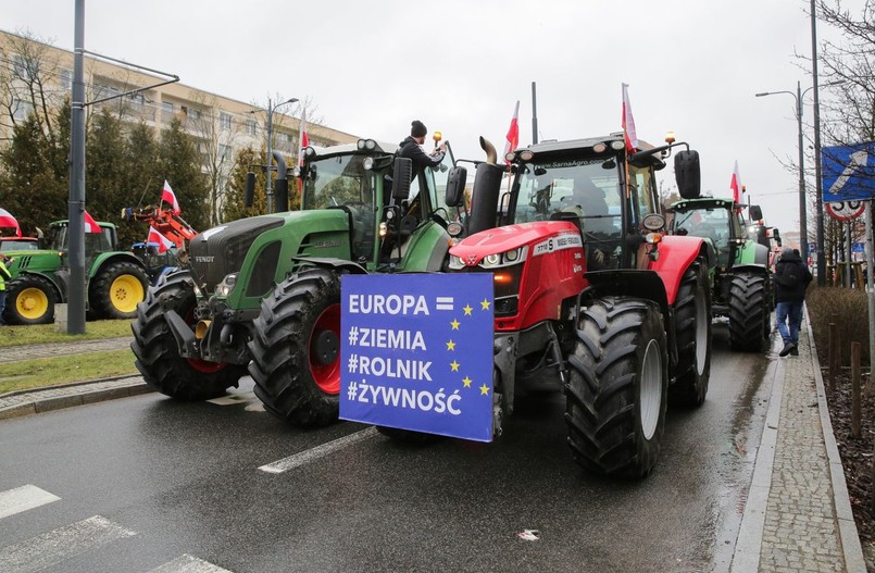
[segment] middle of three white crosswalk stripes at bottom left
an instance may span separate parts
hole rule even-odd
[[[93,515],[0,549],[0,571],[42,571],[110,541],[136,534],[107,518]]]

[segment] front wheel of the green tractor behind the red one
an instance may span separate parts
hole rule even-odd
[[[760,352],[768,342],[768,294],[765,277],[734,273],[729,287],[729,346]]]

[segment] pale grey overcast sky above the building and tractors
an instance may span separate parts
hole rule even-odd
[[[0,0],[0,27],[72,50],[74,4]],[[658,145],[674,130],[699,151],[715,196],[729,194],[738,161],[752,202],[786,232],[799,227],[798,175],[780,164],[798,155],[795,99],[753,95],[811,86],[795,58],[811,54],[809,5],[85,0],[85,48],[246,102],[309,98],[326,125],[363,137],[397,142],[418,119],[466,159],[483,158],[480,135],[503,150],[516,100],[521,144],[532,141],[533,82],[539,139],[620,130],[626,83],[639,138]],[[674,184],[671,163],[663,178]]]

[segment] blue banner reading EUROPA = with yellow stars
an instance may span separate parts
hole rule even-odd
[[[492,275],[343,275],[340,418],[492,439]]]

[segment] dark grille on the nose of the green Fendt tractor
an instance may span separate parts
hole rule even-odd
[[[226,275],[240,271],[252,242],[262,233],[282,224],[277,217],[243,219],[228,223],[218,233],[208,231],[191,239],[189,261],[198,285],[212,292]]]

